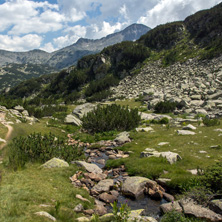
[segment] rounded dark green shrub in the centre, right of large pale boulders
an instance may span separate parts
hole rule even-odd
[[[138,109],[130,109],[112,104],[110,106],[97,106],[95,110],[84,116],[83,128],[92,133],[111,130],[131,130],[138,126],[140,121]]]

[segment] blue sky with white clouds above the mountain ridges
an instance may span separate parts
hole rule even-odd
[[[183,20],[221,0],[0,0],[0,49],[48,52],[98,39],[132,23]]]

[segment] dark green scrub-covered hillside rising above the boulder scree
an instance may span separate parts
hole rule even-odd
[[[76,44],[85,45],[87,41],[80,39]],[[91,41],[87,44],[90,45]],[[60,72],[42,89],[39,99],[61,98],[69,102],[86,98],[88,101],[99,101],[111,95],[110,87],[118,85],[126,76],[137,75],[144,66],[149,69],[149,64],[154,61],[158,60],[163,67],[176,62],[189,64],[188,60],[193,58],[205,60],[207,64],[208,60],[220,55],[222,3],[189,16],[185,21],[160,25],[135,42],[121,42],[81,58],[75,69]],[[40,89],[36,88],[36,91]],[[9,94],[16,96],[17,92],[12,90]],[[20,94],[21,97],[30,95],[32,91]]]

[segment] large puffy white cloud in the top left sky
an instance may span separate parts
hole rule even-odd
[[[72,16],[66,17],[58,11],[57,4],[12,0],[0,4],[0,31],[9,35],[47,33],[58,31],[66,22],[76,22],[83,18],[82,12],[71,9]]]

